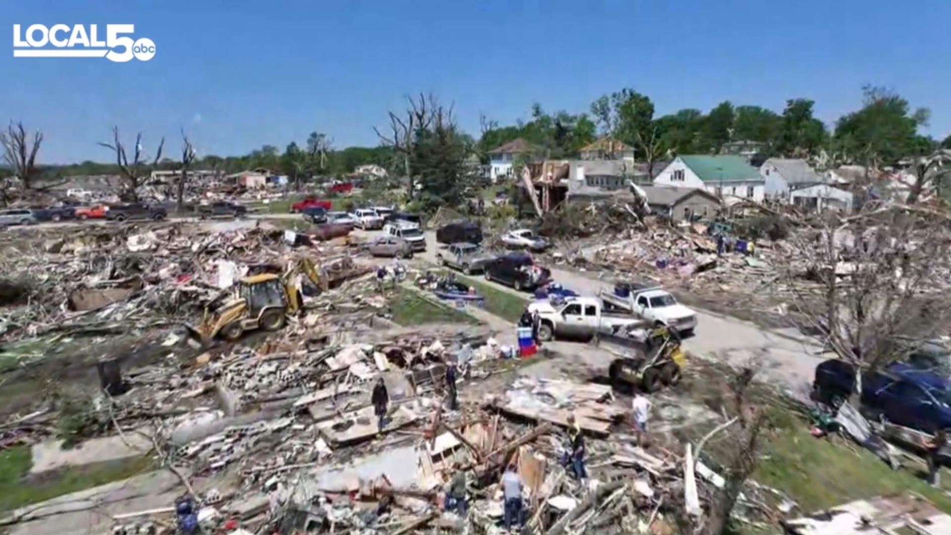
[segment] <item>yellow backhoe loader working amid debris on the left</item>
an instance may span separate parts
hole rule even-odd
[[[314,263],[301,258],[284,273],[262,273],[244,277],[236,285],[232,298],[213,312],[206,307],[201,323],[186,326],[197,342],[207,347],[215,337],[228,341],[241,338],[248,330],[279,330],[287,323],[287,314],[301,309],[301,277],[326,290],[328,281]]]

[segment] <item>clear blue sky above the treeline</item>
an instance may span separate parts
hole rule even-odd
[[[624,87],[658,114],[806,97],[831,124],[872,83],[930,108],[924,133],[951,133],[947,1],[8,0],[0,20],[8,47],[13,24],[33,23],[130,23],[156,44],[151,61],[123,64],[0,53],[0,120],[43,129],[47,163],[107,161],[97,142],[114,124],[149,147],[166,136],[172,155],[180,128],[219,155],[315,129],[376,145],[373,127],[420,90],[477,133],[479,113],[585,111]]]

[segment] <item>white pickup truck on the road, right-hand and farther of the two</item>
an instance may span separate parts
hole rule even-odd
[[[677,303],[677,300],[661,287],[642,284],[619,284],[614,290],[601,290],[597,294],[611,307],[628,310],[648,320],[650,325],[662,324],[677,329],[682,335],[697,327],[697,313]]]

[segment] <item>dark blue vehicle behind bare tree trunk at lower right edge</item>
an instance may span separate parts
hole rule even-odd
[[[813,397],[838,406],[855,388],[855,368],[832,359],[816,367]],[[933,433],[951,428],[951,382],[937,373],[898,363],[862,375],[866,414]]]

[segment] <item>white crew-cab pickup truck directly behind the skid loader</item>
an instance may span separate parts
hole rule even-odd
[[[604,304],[595,297],[535,301],[530,312],[538,312],[541,324],[538,338],[545,342],[554,338],[592,338],[595,334],[611,334],[646,322],[626,313],[604,310]]]

